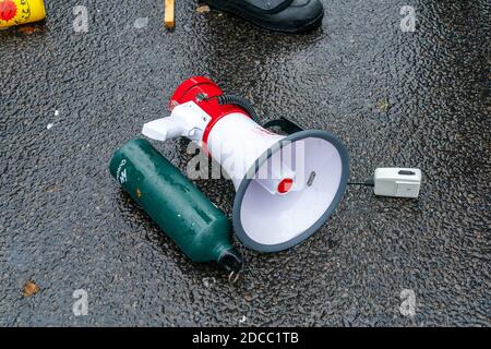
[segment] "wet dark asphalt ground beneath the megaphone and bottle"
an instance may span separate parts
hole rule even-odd
[[[0,325],[491,325],[489,1],[324,0],[322,28],[303,36],[197,14],[191,1],[177,1],[173,33],[161,1],[46,2],[38,32],[0,32]],[[72,29],[75,4],[88,33]],[[399,28],[405,4],[416,33]],[[134,28],[137,17],[148,26]],[[350,186],[295,249],[236,240],[247,261],[236,285],[190,263],[107,166],[196,74],[265,121],[337,134],[352,180],[421,168],[420,198]],[[185,168],[184,141],[156,146]],[[230,215],[231,183],[196,183]],[[24,298],[28,279],[40,291]],[[72,312],[81,288],[87,316]],[[416,294],[412,317],[399,312],[403,289]]]

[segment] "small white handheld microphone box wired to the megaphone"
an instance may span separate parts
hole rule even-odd
[[[375,195],[418,197],[420,186],[421,170],[417,168],[385,167],[375,170]]]

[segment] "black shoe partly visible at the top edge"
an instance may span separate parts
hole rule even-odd
[[[266,29],[304,33],[319,27],[324,9],[319,0],[201,0]]]

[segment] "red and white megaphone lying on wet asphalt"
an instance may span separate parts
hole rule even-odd
[[[285,118],[262,127],[247,100],[224,95],[203,76],[183,82],[170,109],[170,117],[145,123],[142,133],[157,141],[185,136],[220,164],[237,191],[232,224],[246,246],[291,248],[339,204],[349,158],[330,132],[302,130]],[[287,134],[272,132],[274,125]]]

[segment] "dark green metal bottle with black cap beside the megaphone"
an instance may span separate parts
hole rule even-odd
[[[230,242],[231,224],[194,184],[146,140],[132,140],[110,160],[111,176],[193,262],[242,267]]]

